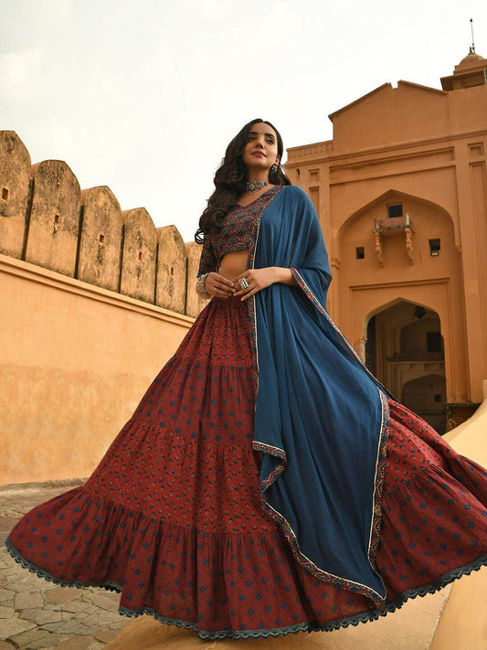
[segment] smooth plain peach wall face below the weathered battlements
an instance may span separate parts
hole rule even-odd
[[[193,318],[0,255],[0,485],[84,477]]]

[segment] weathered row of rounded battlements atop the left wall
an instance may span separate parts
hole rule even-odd
[[[0,253],[196,316],[200,251],[145,208],[122,211],[109,187],[80,189],[64,161],[31,165],[18,135],[0,132]]]

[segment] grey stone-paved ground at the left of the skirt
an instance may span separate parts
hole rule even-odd
[[[118,613],[118,594],[59,587],[23,569],[5,548],[17,519],[80,483],[0,488],[0,650],[99,650],[131,621]]]

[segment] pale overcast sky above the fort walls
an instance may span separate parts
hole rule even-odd
[[[470,18],[487,57],[485,0],[0,0],[0,16],[0,129],[185,241],[244,123],[310,144],[387,81],[440,88]]]

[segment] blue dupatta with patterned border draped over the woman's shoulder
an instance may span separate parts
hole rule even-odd
[[[388,393],[326,312],[328,256],[300,187],[283,187],[263,212],[249,265],[291,268],[297,282],[272,284],[253,304],[262,505],[306,570],[380,607]]]

